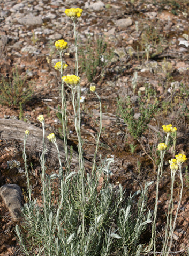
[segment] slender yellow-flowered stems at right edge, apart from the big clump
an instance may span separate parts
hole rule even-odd
[[[171,134],[176,134],[177,128],[172,127],[171,124],[169,125],[163,125],[162,126],[163,131],[165,132],[165,143],[160,143],[157,146],[157,150],[160,151],[160,164],[158,166],[157,171],[157,183],[156,183],[156,201],[155,201],[155,207],[154,207],[154,214],[153,214],[153,222],[152,222],[152,238],[150,241],[149,246],[146,248],[146,252],[149,252],[154,249],[154,255],[156,254],[156,217],[157,217],[157,208],[158,208],[158,193],[159,193],[159,184],[160,184],[160,178],[163,175],[163,162],[164,162],[164,155],[167,150],[168,140],[169,136]],[[175,135],[176,136],[176,135]],[[172,239],[173,239],[173,232],[175,230],[176,226],[176,220],[178,216],[178,211],[180,208],[181,200],[182,200],[182,194],[183,194],[183,177],[182,177],[182,165],[184,162],[187,161],[186,155],[178,154],[175,156],[175,159],[169,160],[170,165],[170,173],[171,173],[171,196],[169,199],[169,206],[168,206],[168,212],[167,212],[167,221],[165,224],[165,235],[163,237],[163,246],[162,246],[162,252],[161,255],[163,256],[169,256],[172,246]],[[179,196],[179,202],[176,210],[175,217],[173,218],[173,189],[174,189],[174,183],[175,183],[175,174],[176,172],[180,173],[180,196]],[[173,221],[172,221],[173,219]]]

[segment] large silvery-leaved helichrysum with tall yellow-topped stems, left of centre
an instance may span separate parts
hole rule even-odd
[[[121,185],[115,188],[110,184],[111,164],[114,163],[114,158],[104,159],[98,166],[96,165],[96,154],[102,131],[102,106],[95,86],[90,87],[90,92],[99,99],[100,131],[96,140],[92,170],[86,174],[80,129],[81,93],[76,30],[82,9],[66,9],[65,13],[72,19],[75,35],[75,74],[63,74],[67,67],[64,63],[63,54],[68,44],[63,39],[55,42],[60,56],[60,62],[56,63],[55,69],[60,72],[61,79],[65,171],[63,173],[63,162],[56,136],[51,133],[47,138],[57,149],[59,171],[48,175],[46,173],[45,120],[43,115],[39,115],[37,119],[41,123],[43,131],[43,150],[40,154],[41,205],[37,204],[37,199],[34,200],[31,195],[26,155],[26,141],[30,133],[26,131],[23,157],[27,177],[28,202],[22,210],[24,218],[22,229],[24,232],[18,225],[16,226],[18,241],[22,251],[27,256],[140,255],[144,250],[140,244],[140,236],[151,222],[151,214],[147,210],[147,194],[152,182],[147,183],[141,191],[125,198]],[[78,138],[78,167],[75,167],[74,171],[71,171],[70,168],[71,158],[67,149],[65,87],[71,89],[74,126]],[[102,176],[104,176],[102,188],[98,191],[99,180]],[[54,179],[58,181],[58,188],[54,187]],[[57,204],[54,203],[55,195]]]

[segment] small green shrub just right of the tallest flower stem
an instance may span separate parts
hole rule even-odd
[[[85,72],[89,82],[92,82],[112,59],[113,54],[108,51],[107,46],[104,38],[100,37],[94,45],[93,40],[89,38],[86,44],[80,47],[81,71]]]

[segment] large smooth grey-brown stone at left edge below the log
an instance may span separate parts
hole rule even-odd
[[[23,198],[21,189],[16,184],[7,184],[0,188],[0,196],[9,210],[11,217],[14,219],[21,218],[21,207],[23,205]]]

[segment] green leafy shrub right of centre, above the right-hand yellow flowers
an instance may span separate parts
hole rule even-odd
[[[128,131],[134,139],[140,139],[148,128],[148,124],[158,111],[158,102],[146,105],[145,98],[138,99],[138,106],[133,106],[130,97],[126,101],[117,100],[118,111],[124,122],[128,125]],[[135,110],[138,109],[138,113]],[[138,114],[138,115],[135,115]]]

